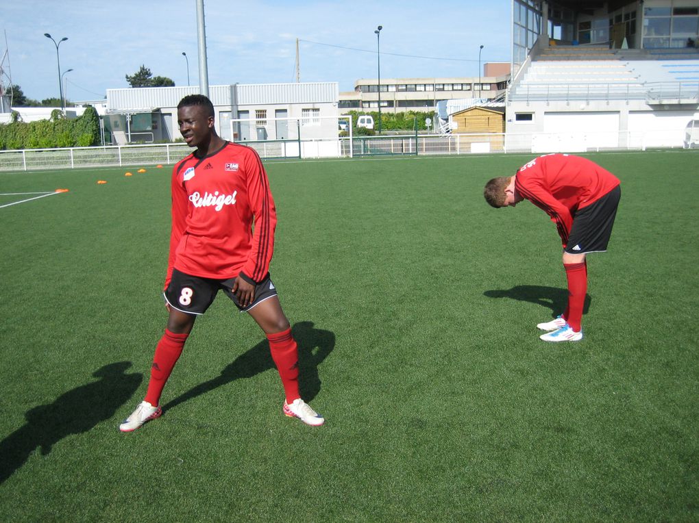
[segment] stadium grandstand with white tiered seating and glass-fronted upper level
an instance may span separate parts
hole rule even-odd
[[[506,147],[691,147],[699,0],[514,0]]]

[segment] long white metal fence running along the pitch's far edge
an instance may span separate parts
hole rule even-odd
[[[254,147],[262,158],[279,159],[670,149],[697,147],[696,140],[683,130],[382,135],[301,140],[301,155],[299,140],[257,140],[245,145]],[[329,142],[335,151],[330,156]],[[184,143],[0,151],[0,171],[173,164],[190,152],[192,149]]]

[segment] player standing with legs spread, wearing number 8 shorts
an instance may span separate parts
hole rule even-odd
[[[164,290],[168,321],[155,348],[145,399],[119,428],[131,432],[161,415],[165,383],[196,317],[219,290],[266,334],[284,386],[283,413],[307,425],[322,425],[324,418],[298,393],[298,348],[269,275],[277,217],[259,156],[217,135],[214,108],[206,96],[182,98],[178,125],[196,151],[173,168]]]

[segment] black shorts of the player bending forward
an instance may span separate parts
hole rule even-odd
[[[580,209],[572,219],[568,244],[563,251],[569,254],[604,252],[612,237],[612,226],[617,216],[621,187],[616,186],[591,205]]]

